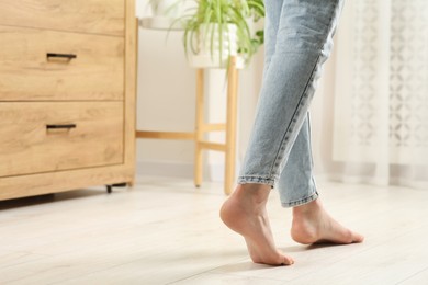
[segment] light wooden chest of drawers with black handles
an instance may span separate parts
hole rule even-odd
[[[134,0],[0,0],[0,200],[128,183]]]

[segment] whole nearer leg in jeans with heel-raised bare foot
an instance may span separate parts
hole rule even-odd
[[[269,5],[272,2],[266,1]],[[255,262],[293,263],[274,248],[266,202],[306,117],[316,79],[331,48],[340,7],[341,0],[282,1],[277,42],[271,59],[267,58],[271,62],[266,67],[250,146],[239,178],[243,185],[238,185],[221,212],[224,223],[245,237]],[[267,19],[271,19],[268,7]],[[304,206],[297,208],[296,212],[304,212]]]

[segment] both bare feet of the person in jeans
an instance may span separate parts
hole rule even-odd
[[[279,251],[273,241],[266,210],[269,193],[269,185],[238,185],[223,204],[221,218],[226,226],[245,238],[254,262],[291,265],[294,263],[293,259]],[[293,208],[291,236],[303,244],[319,242],[347,244],[362,242],[364,239],[333,219],[319,198]]]

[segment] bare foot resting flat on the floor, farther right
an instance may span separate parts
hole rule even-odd
[[[293,208],[291,237],[303,244],[322,242],[348,244],[362,242],[364,239],[363,236],[345,228],[331,218],[319,198]]]

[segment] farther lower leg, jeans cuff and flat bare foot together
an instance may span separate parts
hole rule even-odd
[[[309,116],[305,119],[279,180],[282,206],[293,208],[292,238],[304,244],[361,242],[324,209],[313,176]]]

